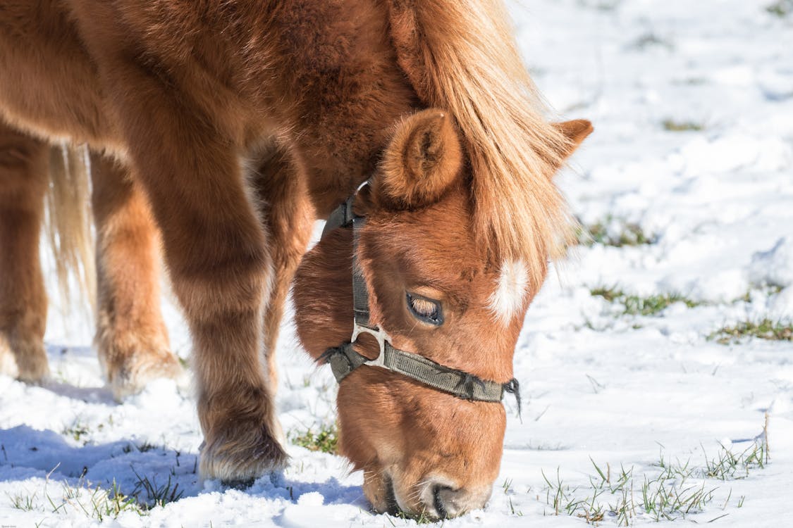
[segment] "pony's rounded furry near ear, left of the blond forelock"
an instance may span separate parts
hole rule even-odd
[[[461,167],[460,138],[450,116],[423,110],[397,126],[374,192],[390,207],[422,207],[440,199]]]

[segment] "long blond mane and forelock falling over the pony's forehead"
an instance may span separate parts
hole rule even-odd
[[[551,182],[569,142],[542,115],[500,0],[390,0],[397,60],[429,106],[450,111],[473,169],[474,229],[496,260],[546,258],[573,240]],[[535,285],[538,286],[538,285]]]

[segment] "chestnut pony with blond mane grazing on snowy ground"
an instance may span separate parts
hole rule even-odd
[[[44,141],[68,138],[91,149],[109,383],[121,397],[178,374],[154,218],[193,337],[203,477],[285,463],[285,296],[312,221],[365,180],[353,208],[371,321],[394,347],[511,379],[527,306],[569,240],[550,179],[592,128],[543,118],[499,0],[6,0],[0,71],[0,364],[19,378],[47,372],[37,233],[47,158],[63,155]],[[297,271],[315,358],[351,340],[352,248],[332,230]],[[356,349],[378,353],[369,336]],[[497,403],[378,367],[339,389],[341,450],[377,511],[481,507],[504,424]]]

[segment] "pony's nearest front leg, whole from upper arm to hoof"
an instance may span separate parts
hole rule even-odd
[[[286,454],[263,357],[270,253],[242,148],[147,69],[114,71],[125,73],[108,85],[121,88],[114,95],[132,169],[193,337],[201,477],[250,481],[282,467]]]

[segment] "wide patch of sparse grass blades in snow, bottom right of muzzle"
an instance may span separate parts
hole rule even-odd
[[[589,476],[588,485],[571,488],[562,481],[558,469],[554,479],[542,472],[546,481],[545,502],[552,508],[552,514],[579,517],[592,525],[613,519],[617,526],[630,526],[637,519],[674,521],[703,512],[714,500],[717,489],[709,487],[707,479],[745,478],[750,469],[762,469],[768,462],[768,446],[754,443],[737,454],[721,446],[716,458],[707,458],[706,455],[705,464],[697,467],[690,461],[667,460],[661,452],[660,461],[654,464],[660,472],[641,477],[634,475],[633,467],[625,469],[621,466],[612,474],[610,465],[598,465],[590,460],[595,474]],[[730,492],[722,510],[731,497]],[[745,497],[741,496],[737,507],[743,506],[744,500]],[[718,515],[709,522],[722,516]]]

